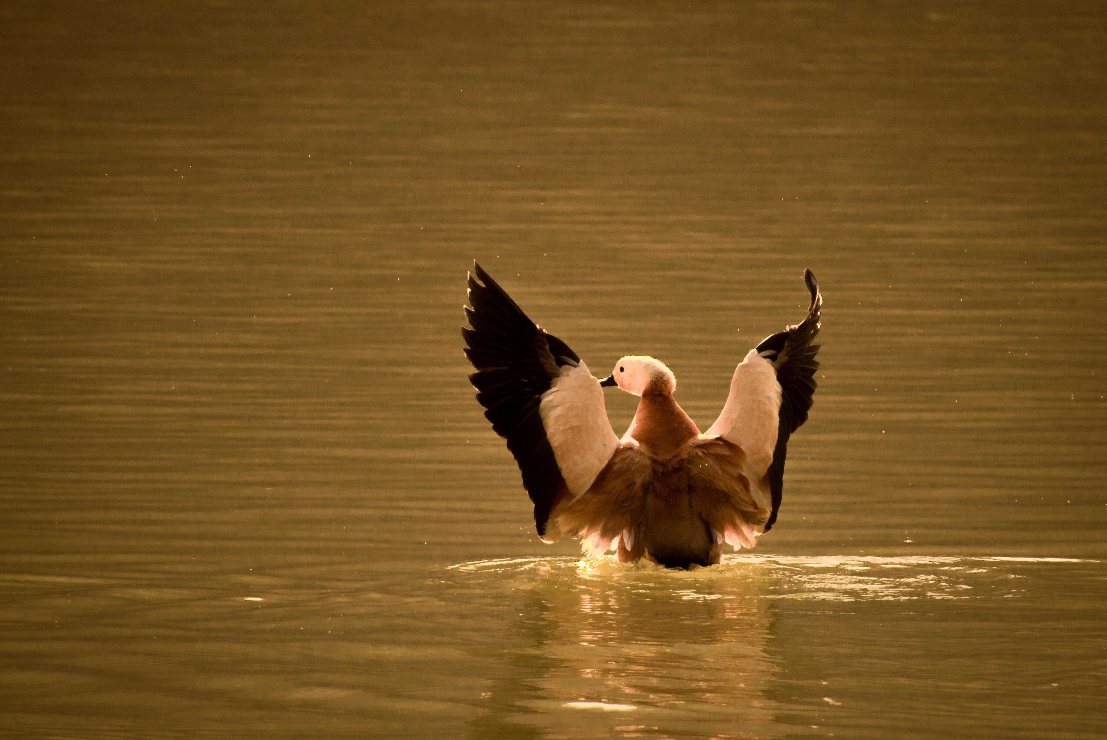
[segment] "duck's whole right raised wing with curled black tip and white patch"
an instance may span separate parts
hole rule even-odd
[[[789,435],[805,421],[817,386],[815,359],[818,345],[823,296],[810,270],[804,281],[811,294],[807,318],[766,338],[746,354],[731,380],[731,392],[718,419],[707,430],[745,453],[745,475],[751,485],[768,485],[772,513],[765,522],[768,532],[776,522],[784,491],[784,461]]]

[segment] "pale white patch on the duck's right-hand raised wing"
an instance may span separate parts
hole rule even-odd
[[[779,412],[780,383],[776,370],[752,349],[734,369],[726,405],[706,431],[742,448],[751,486],[759,487],[762,476],[773,464]]]

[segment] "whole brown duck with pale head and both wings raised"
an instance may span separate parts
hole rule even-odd
[[[694,569],[721,562],[777,521],[789,436],[807,421],[819,368],[823,296],[809,270],[806,318],[765,338],[738,362],[726,402],[701,433],[676,402],[676,377],[628,354],[602,380],[535,323],[474,260],[468,274],[468,379],[493,431],[507,441],[542,542],[582,541],[621,563]],[[639,398],[617,436],[604,389]]]

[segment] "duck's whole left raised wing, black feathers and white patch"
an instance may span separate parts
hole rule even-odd
[[[541,329],[476,263],[462,329],[465,356],[476,368],[469,381],[493,431],[507,440],[535,504],[535,525],[547,538],[550,510],[579,497],[611,459],[603,389],[569,346]],[[479,280],[479,282],[477,281]],[[559,533],[550,532],[550,541]]]

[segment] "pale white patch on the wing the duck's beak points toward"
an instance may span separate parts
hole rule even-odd
[[[561,476],[569,492],[580,497],[619,446],[600,381],[583,361],[576,368],[562,366],[561,374],[542,393],[538,412]]]

